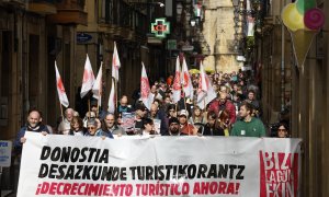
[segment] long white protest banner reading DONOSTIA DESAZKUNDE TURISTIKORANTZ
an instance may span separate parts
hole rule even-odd
[[[18,197],[299,195],[300,139],[25,137]]]

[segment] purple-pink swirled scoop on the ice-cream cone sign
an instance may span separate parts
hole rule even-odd
[[[319,30],[325,24],[325,14],[320,9],[309,9],[305,12],[304,23],[309,30]]]

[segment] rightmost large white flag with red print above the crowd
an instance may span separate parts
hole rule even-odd
[[[198,88],[197,88],[197,100],[196,105],[204,109],[211,101],[216,99],[217,94],[214,91],[213,84],[204,72],[202,62],[200,62],[200,77],[198,77]]]

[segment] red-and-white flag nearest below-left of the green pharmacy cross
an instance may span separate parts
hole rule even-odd
[[[144,62],[141,62],[140,97],[144,105],[150,111],[150,106],[154,102],[154,96],[150,93],[149,82],[146,74]]]

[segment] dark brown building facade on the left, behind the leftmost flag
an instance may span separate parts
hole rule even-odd
[[[83,7],[75,0],[0,2],[1,139],[15,138],[32,107],[56,126],[55,60],[71,99],[76,25],[87,23]]]

